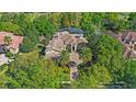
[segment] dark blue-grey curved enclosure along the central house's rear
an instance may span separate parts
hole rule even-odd
[[[83,34],[82,30],[76,27],[65,27],[65,29],[60,29],[58,32],[65,32],[65,31],[68,31],[70,34]]]

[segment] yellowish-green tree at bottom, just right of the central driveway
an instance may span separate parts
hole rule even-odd
[[[109,70],[99,64],[89,68],[88,72],[79,71],[79,79],[72,82],[73,88],[105,88],[112,81]]]

